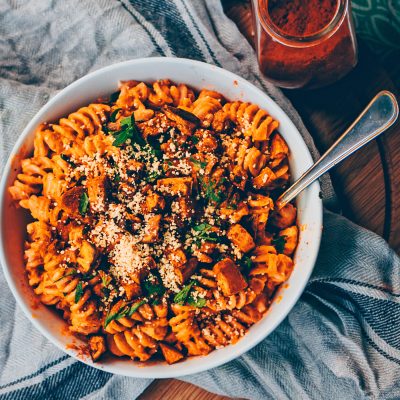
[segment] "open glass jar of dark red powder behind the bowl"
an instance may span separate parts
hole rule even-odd
[[[329,85],[357,64],[349,0],[252,0],[258,62],[284,88]]]

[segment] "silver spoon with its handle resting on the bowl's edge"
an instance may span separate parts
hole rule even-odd
[[[398,115],[399,105],[394,94],[387,90],[379,92],[346,132],[278,198],[277,208],[284,207],[325,172],[383,133]]]

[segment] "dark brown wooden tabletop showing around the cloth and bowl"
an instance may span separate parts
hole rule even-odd
[[[226,14],[252,43],[247,1],[223,0]],[[390,74],[361,42],[359,63],[340,82],[314,91],[286,90],[319,151],[324,152],[382,89],[399,98]],[[396,63],[394,63],[396,64]],[[400,63],[390,73],[400,73]],[[393,76],[393,75],[392,75]],[[400,253],[400,124],[396,123],[332,170],[339,207],[352,221],[383,236]],[[155,381],[140,400],[222,400],[175,379]]]

